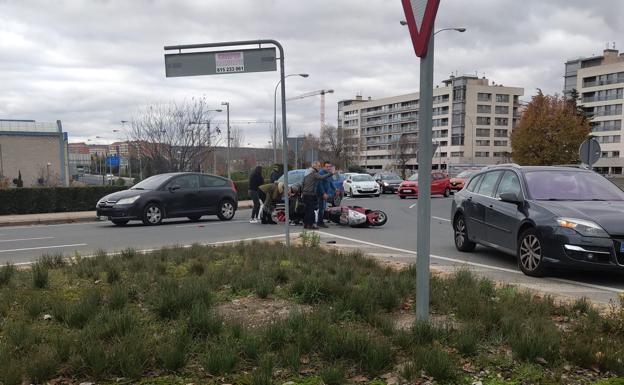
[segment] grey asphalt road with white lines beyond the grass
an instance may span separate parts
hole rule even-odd
[[[484,247],[472,253],[455,249],[450,224],[451,198],[433,197],[431,202],[431,264],[433,268],[452,271],[466,266],[478,274],[501,282],[539,289],[558,296],[587,296],[608,303],[624,293],[624,280],[618,273],[555,272],[548,278],[530,278],[517,268],[514,257]],[[322,241],[335,242],[343,248],[361,248],[380,258],[414,262],[416,250],[416,207],[418,200],[401,200],[394,195],[380,198],[347,198],[343,204],[357,204],[384,210],[388,223],[379,228],[354,229],[330,225],[321,231]],[[27,263],[42,254],[63,253],[92,255],[98,249],[109,252],[125,248],[157,249],[167,245],[218,243],[249,239],[279,239],[280,225],[250,224],[249,210],[237,212],[232,221],[221,222],[205,217],[200,222],[166,221],[148,227],[139,222],[117,227],[110,222],[90,222],[48,226],[0,228],[0,263]],[[291,232],[301,227],[291,226]]]

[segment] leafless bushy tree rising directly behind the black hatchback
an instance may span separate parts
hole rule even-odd
[[[205,98],[148,106],[136,113],[128,135],[152,173],[197,170],[219,142],[210,111]]]

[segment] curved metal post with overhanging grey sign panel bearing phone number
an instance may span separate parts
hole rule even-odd
[[[182,50],[201,48],[223,48],[233,46],[261,46],[272,44],[277,47],[279,57],[275,55],[275,48],[255,48],[238,51],[219,52],[193,52],[183,54]],[[189,44],[165,46],[165,51],[178,51],[177,54],[165,54],[165,72],[167,77],[217,75],[228,73],[247,73],[275,71],[276,61],[280,61],[280,83],[282,91],[282,148],[287,146],[286,130],[286,81],[284,73],[284,48],[277,40],[243,40],[209,44]],[[284,234],[286,247],[290,247],[290,218],[288,204],[288,152],[282,151],[284,164],[284,203],[286,220],[284,221]]]

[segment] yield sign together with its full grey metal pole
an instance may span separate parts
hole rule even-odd
[[[418,113],[418,208],[416,235],[416,319],[429,319],[431,157],[433,126],[433,24],[440,0],[401,0],[416,56],[420,57]]]

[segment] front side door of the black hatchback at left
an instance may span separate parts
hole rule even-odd
[[[197,212],[199,207],[197,175],[186,174],[172,179],[166,186],[164,203],[168,217]]]

